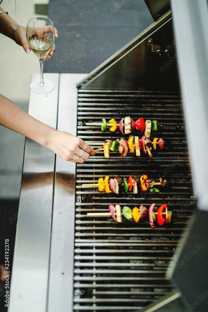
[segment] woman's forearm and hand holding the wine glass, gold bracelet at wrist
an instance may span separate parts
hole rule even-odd
[[[4,11],[4,10],[0,7],[0,12],[1,11]],[[5,36],[11,38],[12,40],[14,40],[18,45],[23,46],[23,49],[25,50],[25,52],[27,54],[30,53],[31,48],[29,47],[29,45],[27,43],[26,27],[17,24],[6,13],[1,13],[0,14],[0,32],[3,35],[5,35]],[[55,37],[57,38],[57,36],[58,36],[58,32],[57,32],[57,30],[55,28]],[[51,55],[54,53],[54,51],[55,51],[55,44],[51,48],[51,51],[47,55],[46,59],[50,58]]]

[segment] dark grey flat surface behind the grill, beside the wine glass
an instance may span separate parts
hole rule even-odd
[[[153,22],[144,0],[50,0],[48,17],[58,38],[45,72],[54,73],[91,72]]]

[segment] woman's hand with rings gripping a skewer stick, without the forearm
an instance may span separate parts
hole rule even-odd
[[[73,163],[84,163],[90,155],[96,154],[96,151],[82,139],[59,130],[53,131],[46,147],[52,149],[56,155]]]

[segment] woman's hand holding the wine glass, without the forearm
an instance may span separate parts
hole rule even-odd
[[[25,50],[25,52],[28,54],[31,51],[31,48],[28,45],[27,42],[27,38],[26,38],[26,28],[24,26],[18,25],[17,27],[15,27],[15,30],[13,32],[13,40],[19,45],[19,46],[23,46],[23,49]],[[55,38],[58,37],[58,32],[55,28]],[[54,53],[55,51],[55,43],[53,44],[51,51],[49,52],[49,54],[46,56],[46,60],[51,58],[51,55]]]

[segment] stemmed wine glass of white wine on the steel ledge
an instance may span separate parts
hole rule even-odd
[[[53,22],[46,17],[32,18],[27,23],[26,37],[41,66],[41,79],[33,80],[30,89],[39,94],[49,93],[54,89],[54,83],[49,79],[43,81],[43,71],[46,56],[54,44],[55,29]]]

